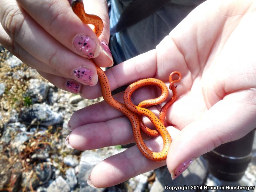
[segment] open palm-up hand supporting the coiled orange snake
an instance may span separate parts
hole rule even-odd
[[[148,160],[134,146],[97,164],[91,173],[94,186],[116,185],[165,164],[175,175],[182,162],[256,127],[255,10],[252,0],[206,1],[155,50],[106,71],[111,90],[148,77],[168,82],[172,71],[179,71],[182,80],[175,84],[178,99],[166,116],[173,140],[166,161]],[[99,84],[82,90],[88,99],[100,94]],[[138,104],[158,95],[156,88],[143,87],[134,93],[133,101]],[[118,101],[122,97],[122,93],[115,95]],[[157,112],[160,106],[150,109]],[[133,142],[128,119],[104,101],[75,112],[69,125],[73,130],[69,144],[79,150]],[[163,146],[161,137],[145,143],[153,151]]]

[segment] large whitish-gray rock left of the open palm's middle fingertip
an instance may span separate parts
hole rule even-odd
[[[38,124],[49,126],[60,124],[63,120],[63,115],[52,111],[49,105],[43,103],[34,104],[22,110],[20,119],[28,124],[31,124],[36,119]]]

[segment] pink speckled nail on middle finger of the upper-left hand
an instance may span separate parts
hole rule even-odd
[[[97,83],[96,72],[90,68],[80,67],[73,71],[73,76],[77,78],[77,81],[85,85],[95,85]]]

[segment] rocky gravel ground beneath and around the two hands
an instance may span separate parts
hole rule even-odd
[[[225,191],[200,186],[256,186],[256,140],[252,160],[239,182],[218,180],[197,158],[177,179],[166,166],[110,188],[86,183],[93,166],[129,146],[78,151],[65,145],[67,122],[78,109],[102,101],[57,89],[0,46],[0,191],[165,191],[165,186],[198,186],[185,191]],[[228,190],[246,191],[246,190]],[[250,190],[256,192],[256,189]]]

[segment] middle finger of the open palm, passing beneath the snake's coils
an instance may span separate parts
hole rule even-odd
[[[86,87],[83,87],[84,89]],[[83,90],[82,90],[83,91]],[[114,95],[114,99],[123,103],[123,92],[118,93]],[[156,87],[142,87],[132,95],[132,101],[134,104],[138,105],[140,101],[156,98],[160,95],[160,90]],[[158,108],[154,108],[156,110],[156,113],[159,112],[160,106],[157,106]],[[152,108],[151,108],[152,109]],[[68,125],[69,129],[73,130],[76,127],[85,125],[85,124],[91,124],[91,123],[97,123],[97,122],[105,122],[110,119],[114,119],[117,117],[124,116],[124,114],[117,109],[111,107],[108,105],[105,101],[101,101],[99,103],[96,103],[94,105],[90,105],[86,108],[80,109],[76,111],[70,118]]]

